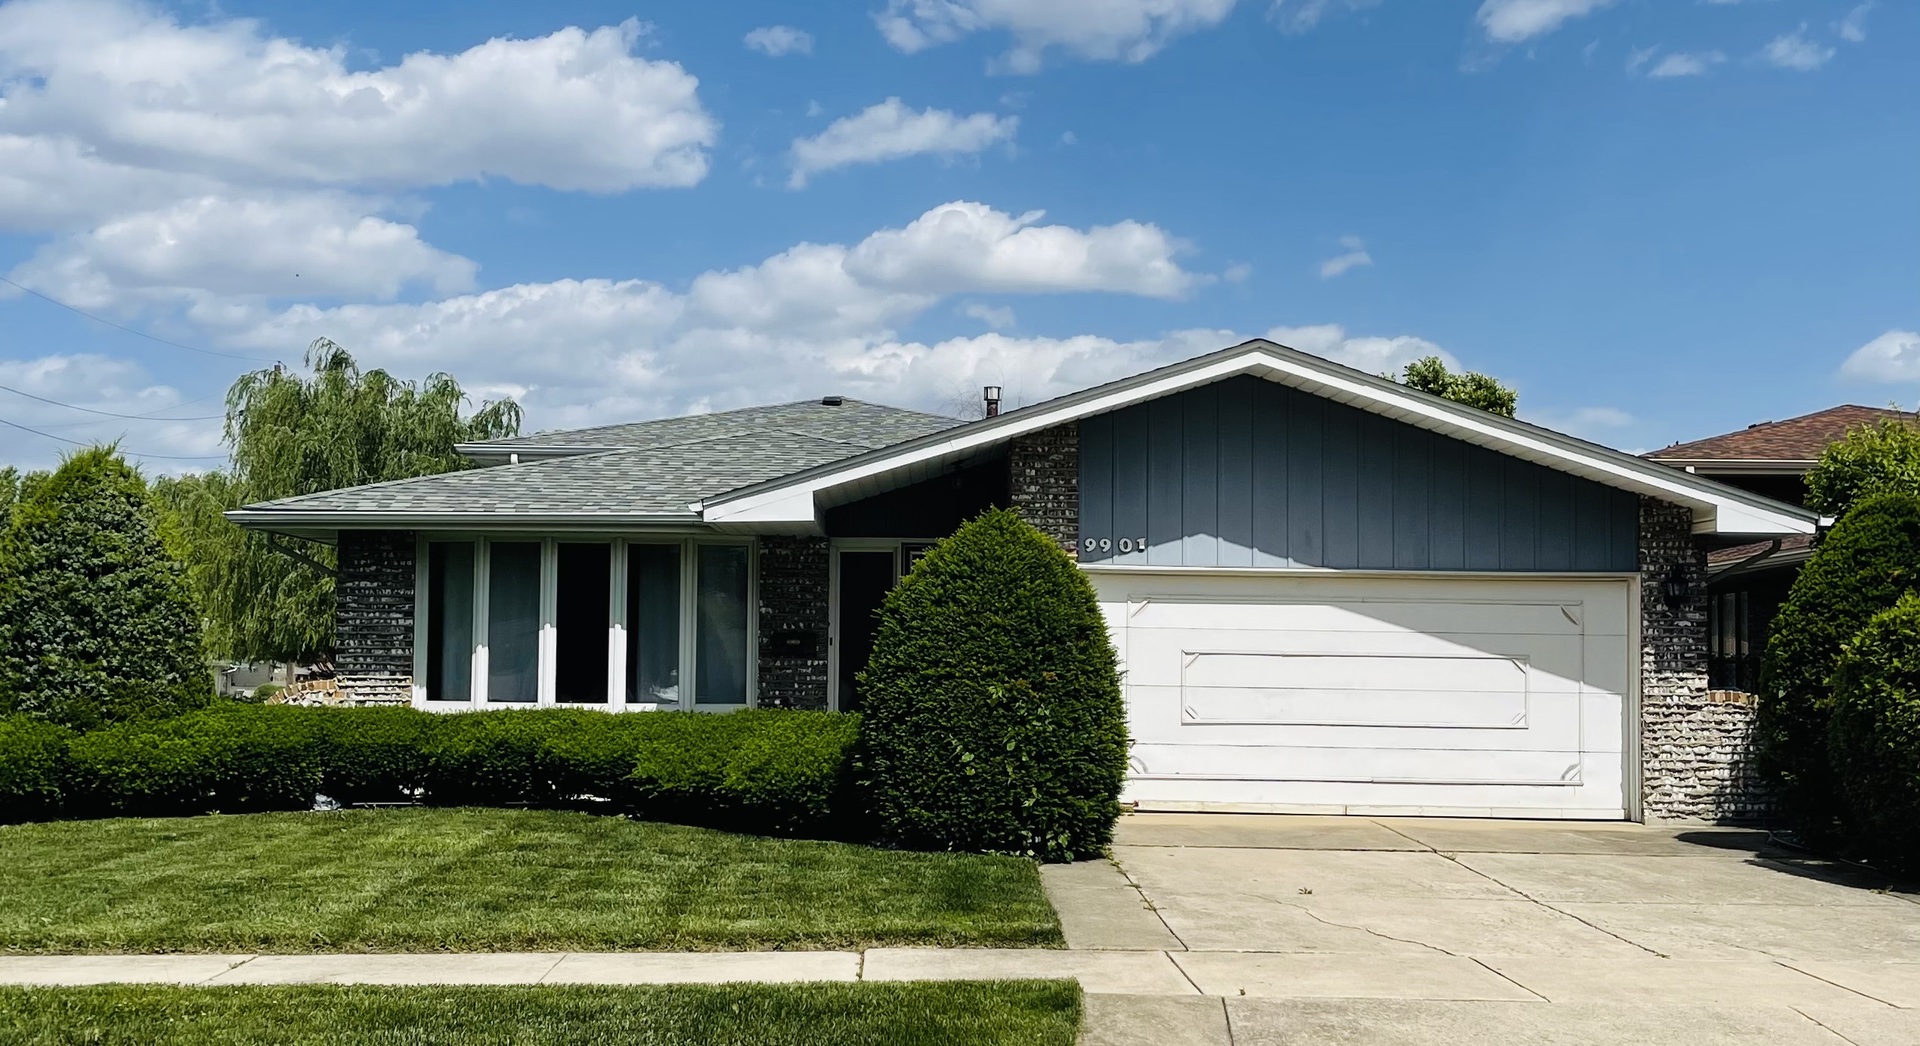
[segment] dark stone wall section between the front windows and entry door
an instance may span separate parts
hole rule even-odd
[[[826,537],[760,537],[760,697],[762,708],[828,706]],[[774,656],[776,631],[812,631],[816,656]]]

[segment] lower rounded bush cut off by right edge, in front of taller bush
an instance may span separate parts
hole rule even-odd
[[[1847,643],[1828,750],[1853,848],[1920,871],[1920,597],[1903,597]]]

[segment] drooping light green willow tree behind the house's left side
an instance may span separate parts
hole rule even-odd
[[[520,405],[482,401],[451,374],[420,382],[361,370],[340,345],[307,347],[305,372],[271,367],[227,392],[227,472],[159,484],[207,616],[207,645],[240,660],[328,662],[332,549],[242,532],[221,514],[257,501],[468,468],[455,443],[520,432]]]

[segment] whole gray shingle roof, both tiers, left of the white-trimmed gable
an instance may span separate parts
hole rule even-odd
[[[695,518],[695,501],[960,424],[876,403],[749,407],[495,440],[588,453],[248,505],[248,512],[605,514]],[[591,451],[589,447],[618,447]]]

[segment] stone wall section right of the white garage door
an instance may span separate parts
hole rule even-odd
[[[1680,566],[1692,599],[1667,606]],[[1707,689],[1707,551],[1682,505],[1640,499],[1640,758],[1647,820],[1751,821],[1772,812],[1753,768],[1753,699]]]

